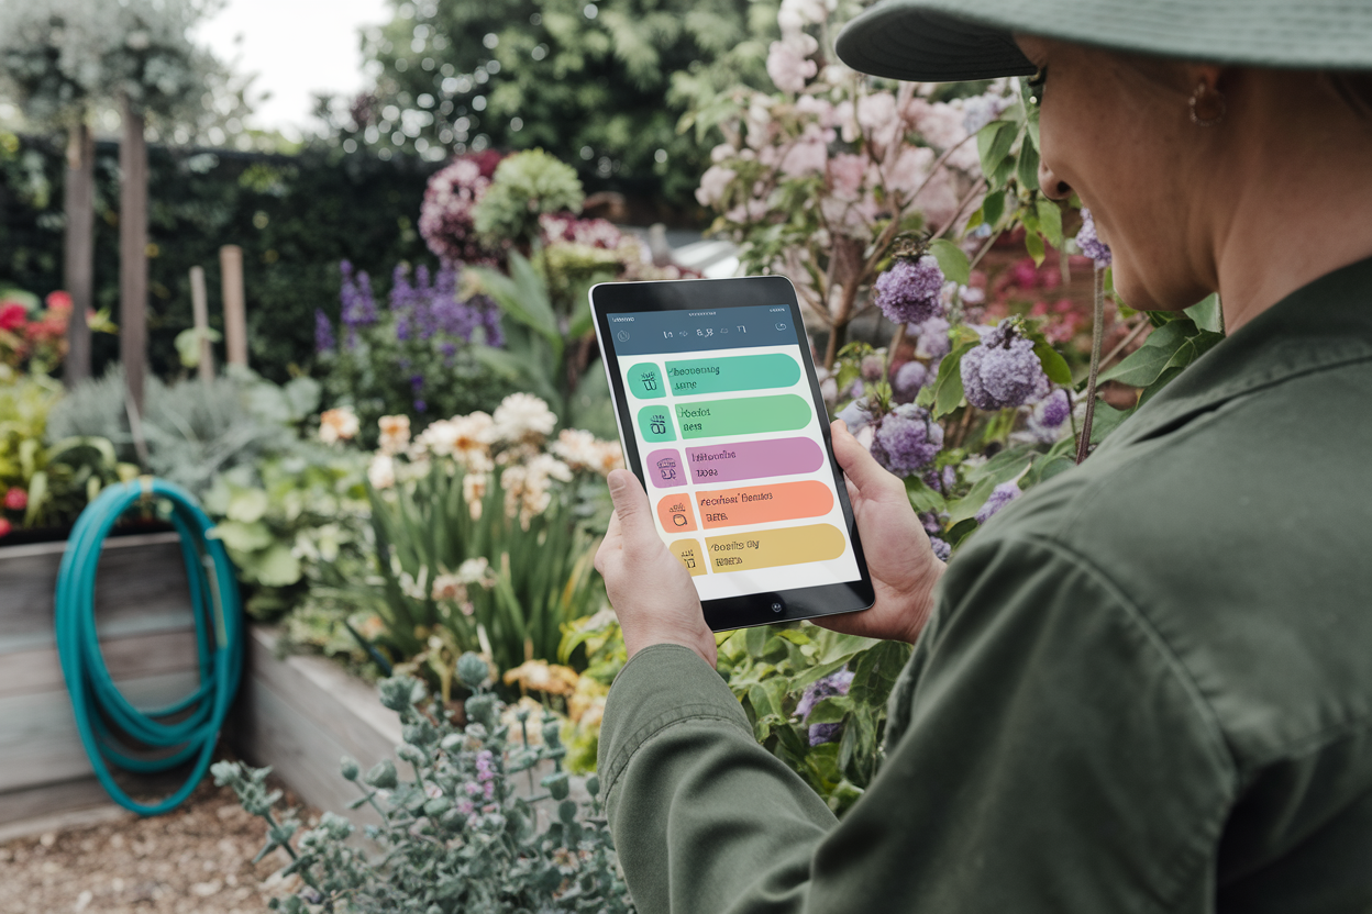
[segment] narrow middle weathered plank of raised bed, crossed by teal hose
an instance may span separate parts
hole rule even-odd
[[[178,670],[195,670],[195,632],[156,632],[100,641],[104,663],[114,680],[134,680]],[[14,695],[58,692],[66,688],[56,648],[18,651],[0,658],[0,699]],[[0,758],[4,750],[0,750]]]

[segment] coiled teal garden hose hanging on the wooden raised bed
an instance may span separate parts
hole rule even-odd
[[[172,525],[181,534],[181,556],[191,582],[200,685],[166,707],[140,710],[119,692],[100,654],[95,623],[95,574],[100,548],[114,522],[141,499],[172,503]],[[165,480],[144,477],[111,485],[77,518],[58,573],[56,626],[62,676],[71,695],[77,730],[100,784],[115,803],[140,815],[180,806],[210,766],[224,717],[243,671],[243,623],[239,586],[224,544],[206,534],[214,522],[195,496]],[[170,719],[169,719],[170,718]],[[117,736],[117,732],[121,736]],[[122,743],[172,750],[156,758],[130,755]],[[195,759],[191,777],[176,793],[145,806],[115,784],[110,765],[126,771],[166,771]]]

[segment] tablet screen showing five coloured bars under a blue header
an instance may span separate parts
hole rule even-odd
[[[657,532],[701,599],[856,581],[790,308],[611,314]]]

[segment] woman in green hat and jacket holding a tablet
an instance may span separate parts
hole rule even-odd
[[[600,770],[639,910],[1372,910],[1372,3],[896,0],[838,53],[1037,71],[1040,185],[1125,301],[1220,292],[1229,336],[947,574],[836,423],[878,600],[823,622],[915,641],[841,824],[753,741],[612,475]]]

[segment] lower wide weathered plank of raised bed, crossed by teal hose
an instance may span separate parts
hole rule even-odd
[[[159,707],[199,685],[195,673],[119,682],[137,707]],[[0,792],[92,774],[66,689],[0,697]]]

